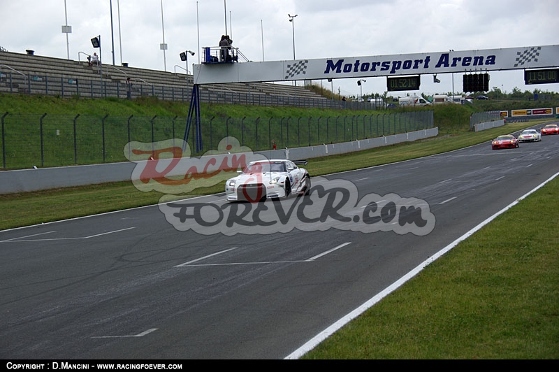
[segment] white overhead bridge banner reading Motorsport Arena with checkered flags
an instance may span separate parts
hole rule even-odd
[[[294,59],[194,65],[194,83],[249,83],[479,73],[558,67],[559,45],[486,50],[426,52],[409,55]]]

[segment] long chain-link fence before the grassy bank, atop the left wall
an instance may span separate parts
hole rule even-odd
[[[68,166],[126,161],[131,141],[154,143],[186,138],[194,149],[195,126],[187,117],[118,115],[12,114],[0,117],[3,169]],[[235,137],[254,151],[340,143],[433,128],[433,112],[383,113],[337,117],[211,117],[201,118],[202,149],[217,148]]]

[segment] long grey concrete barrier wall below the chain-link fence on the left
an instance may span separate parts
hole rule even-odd
[[[338,155],[346,154],[348,152],[368,150],[370,148],[393,145],[395,143],[416,141],[422,138],[435,137],[438,134],[438,128],[431,128],[404,134],[395,134],[393,136],[356,140],[347,143],[324,144],[305,148],[279,149],[256,153],[261,154],[268,159],[312,159],[328,155]],[[239,156],[241,154],[234,155]],[[211,155],[211,157],[215,158],[216,164],[221,164],[221,162],[224,161],[224,158],[231,156],[233,155]],[[159,160],[157,169],[166,169],[166,167],[170,165],[171,160],[172,159]],[[136,162],[122,162],[85,166],[64,166],[58,168],[1,171],[0,194],[128,181],[132,180],[133,175],[134,177],[138,176],[138,172],[134,172],[135,167]],[[165,174],[165,176],[184,176],[184,174],[173,173],[173,170],[171,169]]]

